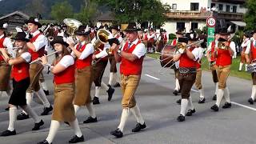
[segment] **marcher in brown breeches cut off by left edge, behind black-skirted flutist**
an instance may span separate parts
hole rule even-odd
[[[14,57],[13,44],[10,38],[6,37],[5,33],[7,26],[7,23],[0,22],[0,49],[7,49],[8,53]],[[2,54],[0,54],[0,98],[4,91],[10,96],[10,66],[4,61]]]

